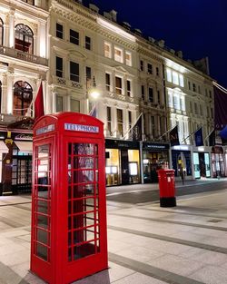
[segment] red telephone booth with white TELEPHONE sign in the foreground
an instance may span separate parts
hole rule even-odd
[[[107,269],[103,124],[81,113],[35,123],[31,270],[50,284]]]

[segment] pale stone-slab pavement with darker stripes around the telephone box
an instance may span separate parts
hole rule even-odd
[[[75,284],[227,283],[227,190],[178,206],[108,201],[109,269]],[[29,272],[29,196],[0,197],[0,284],[42,284]]]

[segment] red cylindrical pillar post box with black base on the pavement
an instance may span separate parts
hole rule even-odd
[[[176,206],[174,170],[159,170],[160,206]]]

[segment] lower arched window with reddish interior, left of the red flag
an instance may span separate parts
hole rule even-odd
[[[14,88],[14,115],[25,115],[33,101],[33,89],[29,83],[17,81]],[[31,113],[32,116],[32,113]]]

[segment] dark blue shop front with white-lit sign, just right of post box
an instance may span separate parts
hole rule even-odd
[[[192,146],[179,145],[172,147],[172,166],[175,177],[179,180],[192,180]]]

